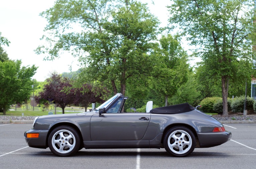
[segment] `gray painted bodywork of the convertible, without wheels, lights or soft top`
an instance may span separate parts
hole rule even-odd
[[[120,97],[123,96],[119,94],[116,100]],[[31,147],[47,148],[49,133],[62,125],[74,127],[85,148],[160,148],[165,133],[174,126],[190,128],[197,138],[196,147],[220,145],[231,138],[229,131],[213,133],[214,127],[223,125],[195,109],[177,114],[105,113],[100,117],[97,111],[92,111],[40,116],[34,127],[24,133],[38,132],[39,138],[25,139]]]

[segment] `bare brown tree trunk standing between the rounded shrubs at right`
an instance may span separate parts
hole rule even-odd
[[[227,76],[221,76],[221,84],[222,84],[222,106],[223,113],[222,115],[228,115],[228,82],[229,78]]]

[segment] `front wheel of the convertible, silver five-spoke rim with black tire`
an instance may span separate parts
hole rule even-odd
[[[51,131],[48,138],[48,145],[53,154],[60,157],[67,157],[78,151],[80,137],[74,128],[59,126]]]

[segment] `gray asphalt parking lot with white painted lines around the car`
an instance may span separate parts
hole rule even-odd
[[[224,124],[225,125],[225,124]],[[32,124],[0,124],[0,168],[255,168],[256,124],[226,124],[227,143],[196,148],[188,157],[171,157],[165,149],[82,149],[72,157],[57,157],[49,148],[28,147],[24,131]]]

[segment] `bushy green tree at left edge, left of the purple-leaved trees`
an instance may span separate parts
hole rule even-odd
[[[34,65],[21,67],[20,60],[0,62],[0,112],[5,115],[11,104],[29,98],[36,69]]]

